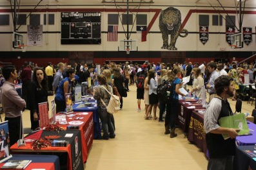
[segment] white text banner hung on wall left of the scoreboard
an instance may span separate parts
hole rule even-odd
[[[28,25],[28,46],[43,46],[43,25]]]

